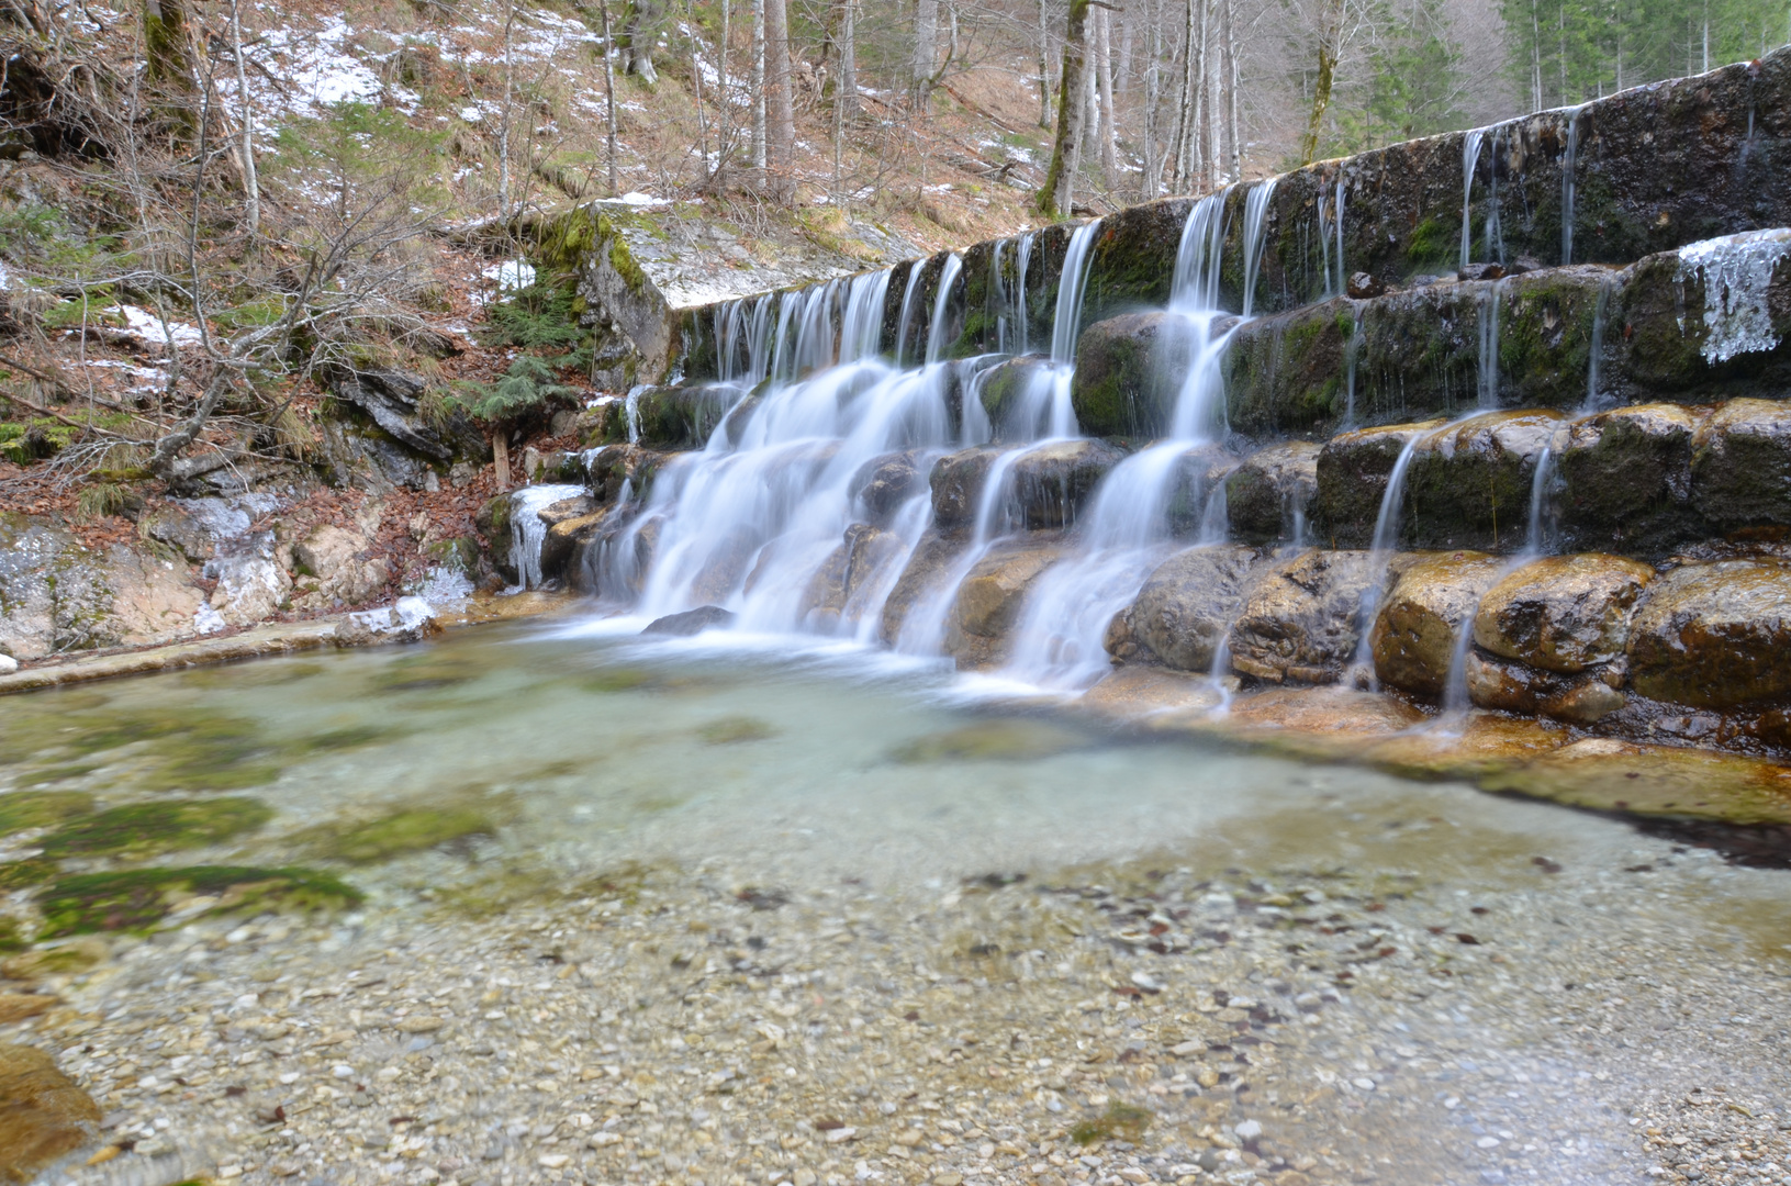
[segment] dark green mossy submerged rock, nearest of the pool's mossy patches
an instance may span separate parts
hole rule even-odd
[[[360,903],[362,894],[328,872],[193,865],[131,869],[61,878],[38,894],[43,939],[95,932],[150,932],[170,910],[193,898],[217,898],[206,914],[265,910],[331,910]]]

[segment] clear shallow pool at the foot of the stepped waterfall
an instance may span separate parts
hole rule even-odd
[[[99,966],[39,984],[75,1012],[13,1032],[70,1052],[113,1132],[168,1120],[183,1166],[267,1181],[410,1181],[416,1157],[469,1186],[716,1186],[777,1166],[1178,1181],[1200,1154],[1238,1154],[1202,1173],[1630,1182],[1687,1148],[1646,1129],[1687,1118],[1716,1125],[1691,1148],[1737,1152],[1725,1166],[1786,1161],[1778,871],[1460,785],[1001,708],[874,652],[647,643],[630,625],[485,627],[0,700],[0,813],[48,812],[0,851],[23,878],[5,899],[20,939],[47,921],[156,926],[116,901],[43,908],[107,871],[299,869],[364,894],[217,917],[238,890],[163,887],[156,937],[102,930]],[[168,804],[190,813],[154,813]],[[297,905],[317,905],[304,889]],[[344,989],[369,976],[383,987]],[[1270,1001],[1266,1021],[1239,1014],[1254,1044],[1225,1039],[1218,993]],[[450,1021],[416,1037],[392,1005]],[[149,1028],[127,1034],[133,1018]],[[754,1028],[799,1021],[788,1050]],[[256,1044],[279,1027],[337,1037]],[[1003,1082],[946,1041],[990,1028],[1026,1036],[1003,1039]],[[1137,1057],[1089,1062],[1128,1041]],[[150,1043],[204,1070],[145,1089],[168,1059]],[[620,1079],[584,1079],[604,1064]],[[713,1086],[729,1071],[758,1086]],[[355,1111],[360,1082],[390,1105]],[[1680,1102],[1716,1086],[1748,1114]],[[734,1129],[711,1145],[697,1116],[724,1098]],[[270,1100],[313,1111],[267,1129]],[[1066,1145],[1114,1102],[1146,1107],[1150,1134]],[[426,1118],[412,1161],[373,1139],[380,1111]],[[833,1113],[863,1134],[842,1150],[813,1139]],[[1023,1154],[887,1152],[942,1114],[1012,1130]],[[577,1116],[629,1136],[591,1145]],[[1272,1134],[1255,1163],[1223,1143],[1252,1120]],[[570,1159],[546,1165],[562,1138]]]

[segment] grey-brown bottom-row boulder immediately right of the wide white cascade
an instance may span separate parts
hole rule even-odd
[[[1238,620],[1245,589],[1263,554],[1245,545],[1189,548],[1157,566],[1125,611],[1112,640],[1143,643],[1166,666],[1209,672]]]

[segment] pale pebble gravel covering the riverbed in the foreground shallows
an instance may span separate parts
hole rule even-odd
[[[1778,923],[1710,905],[1784,874],[1644,837],[1401,872],[1440,826],[199,921],[81,941],[0,1041],[106,1113],[48,1182],[1791,1182]]]

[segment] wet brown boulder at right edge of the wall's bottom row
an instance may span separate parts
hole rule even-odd
[[[1791,697],[1791,564],[1721,561],[1658,577],[1628,657],[1630,683],[1655,700],[1735,708]]]

